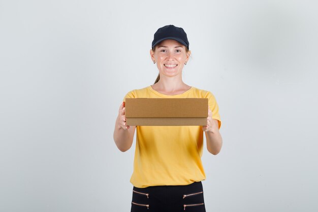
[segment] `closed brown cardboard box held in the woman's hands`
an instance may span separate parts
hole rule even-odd
[[[208,99],[126,98],[127,126],[205,126]]]

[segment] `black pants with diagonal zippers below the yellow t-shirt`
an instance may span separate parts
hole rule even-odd
[[[131,212],[205,212],[202,183],[133,188]]]

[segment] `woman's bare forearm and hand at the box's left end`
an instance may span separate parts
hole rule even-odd
[[[115,123],[114,141],[121,152],[130,149],[133,144],[136,126],[126,126],[125,103],[119,107]]]

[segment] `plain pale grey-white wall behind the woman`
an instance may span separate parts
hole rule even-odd
[[[317,211],[315,1],[0,1],[0,211],[130,211],[118,108],[152,84],[156,29],[184,28],[185,83],[219,104],[207,211]],[[134,144],[135,145],[135,141]]]

